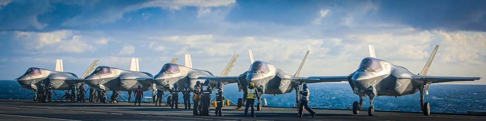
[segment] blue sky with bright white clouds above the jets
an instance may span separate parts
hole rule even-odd
[[[0,79],[29,67],[82,75],[93,60],[155,75],[172,58],[230,76],[256,60],[301,76],[344,76],[377,57],[419,73],[441,45],[433,76],[486,77],[485,0],[1,0]],[[460,84],[486,84],[484,79]]]

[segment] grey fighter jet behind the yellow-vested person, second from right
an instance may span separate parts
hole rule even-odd
[[[298,68],[297,72],[294,76],[288,75],[282,70],[276,68],[273,64],[264,62],[264,61],[254,61],[253,54],[251,50],[248,50],[250,55],[251,66],[250,69],[244,72],[240,76],[219,76],[219,77],[199,77],[199,78],[209,78],[210,80],[214,81],[222,81],[222,80],[233,80],[238,82],[239,91],[243,91],[246,93],[246,87],[250,82],[255,84],[255,87],[258,89],[261,94],[284,94],[290,93],[295,90],[295,99],[298,105],[298,90],[304,83],[319,83],[319,82],[327,82],[321,81],[319,79],[307,79],[307,77],[299,77],[300,70],[304,65],[304,62],[309,55],[309,51],[307,51],[304,60],[300,63],[300,67]],[[260,110],[261,98],[259,103],[257,104],[257,110]],[[243,100],[240,98],[238,102],[242,102]]]

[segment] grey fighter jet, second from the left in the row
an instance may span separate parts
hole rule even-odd
[[[177,59],[172,59],[171,62],[176,61]],[[106,95],[106,91],[136,91],[139,85],[142,91],[155,90],[153,77],[150,73],[139,72],[139,60],[132,58],[130,70],[99,66],[84,81]]]

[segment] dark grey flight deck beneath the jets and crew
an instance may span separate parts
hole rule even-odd
[[[297,118],[297,109],[280,107],[263,107],[262,111],[255,111],[256,117],[244,117],[243,109],[234,109],[235,106],[223,107],[224,117],[214,116],[214,107],[211,107],[211,116],[192,116],[192,109],[172,109],[169,106],[155,106],[152,103],[142,103],[142,106],[133,106],[133,103],[121,102],[118,104],[102,103],[72,103],[51,102],[38,103],[32,100],[0,100],[0,120],[36,120],[36,121],[484,121],[486,117],[467,114],[436,114],[424,116],[423,113],[403,113],[393,111],[375,111],[374,116],[368,116],[367,111],[353,115],[351,110],[314,109],[317,113],[311,117],[304,111],[304,117]],[[181,108],[182,107],[182,108]],[[248,112],[249,113],[249,112]],[[249,116],[249,114],[248,114]]]

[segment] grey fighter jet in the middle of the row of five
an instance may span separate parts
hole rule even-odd
[[[231,68],[233,67],[234,63],[236,62],[236,59],[238,58],[239,55],[234,55],[231,61],[226,65],[226,68],[223,70],[220,76],[228,76],[229,72],[231,71]],[[191,61],[191,55],[186,54],[185,55],[185,66],[183,65],[178,65],[174,63],[166,63],[164,66],[162,66],[162,69],[160,72],[154,76],[154,82],[157,86],[161,88],[157,88],[159,90],[163,91],[168,91],[168,89],[171,89],[174,87],[174,83],[177,83],[177,85],[184,85],[187,83],[190,87],[194,87],[196,84],[196,81],[201,81],[204,82],[204,79],[198,79],[198,77],[216,77],[212,73],[205,71],[205,70],[199,70],[199,69],[193,69],[192,68],[192,61]],[[228,83],[237,83],[236,81],[232,80],[221,80],[223,84],[228,84]],[[214,89],[216,88],[217,81],[210,82],[209,85]],[[191,88],[192,89],[192,88]]]

